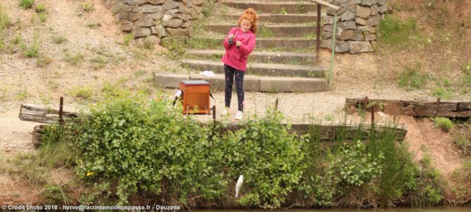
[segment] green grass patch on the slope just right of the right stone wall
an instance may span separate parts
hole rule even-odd
[[[420,38],[417,20],[414,18],[402,21],[392,16],[385,16],[380,20],[379,29],[378,41],[386,45],[403,47],[417,44],[417,39]]]

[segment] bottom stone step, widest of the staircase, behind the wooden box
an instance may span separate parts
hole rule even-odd
[[[180,88],[180,81],[204,80],[211,90],[224,90],[224,75],[208,77],[200,74],[155,73],[154,83],[163,88]],[[325,78],[244,76],[244,90],[261,92],[322,92],[329,89]]]

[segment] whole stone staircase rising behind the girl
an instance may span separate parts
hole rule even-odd
[[[252,7],[260,16],[257,44],[248,59],[244,89],[262,92],[320,92],[328,90],[325,68],[316,66],[315,20],[317,5],[311,1],[223,0],[217,8],[230,13],[216,13],[204,25],[202,33],[190,40],[182,66],[192,69],[189,76],[156,73],[156,83],[178,88],[180,80],[205,80],[214,90],[223,90],[221,57],[223,39],[237,26],[245,8]],[[214,71],[216,76],[199,75]]]

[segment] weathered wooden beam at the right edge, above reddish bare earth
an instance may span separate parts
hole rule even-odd
[[[354,113],[358,109],[366,110],[364,99],[345,100],[345,111]],[[414,117],[471,117],[471,102],[417,102],[414,100],[370,100],[384,102],[385,106],[375,106],[375,111],[390,115]],[[439,104],[439,105],[437,105]]]

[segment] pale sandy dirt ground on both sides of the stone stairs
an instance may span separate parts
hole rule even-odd
[[[37,59],[24,57],[16,45],[11,44],[11,52],[0,52],[0,161],[12,158],[18,153],[35,152],[31,143],[31,133],[37,123],[23,122],[18,119],[19,109],[23,103],[34,103],[56,107],[59,96],[65,97],[67,107],[84,107],[88,101],[73,98],[74,88],[86,87],[93,90],[93,98],[100,93],[105,82],[115,82],[125,79],[125,85],[131,88],[152,85],[149,83],[152,72],[165,71],[177,67],[178,61],[161,56],[157,50],[144,51],[139,47],[121,45],[123,35],[117,30],[112,14],[107,11],[103,1],[88,1],[94,10],[87,13],[81,10],[83,1],[42,0],[48,9],[45,23],[38,20],[33,10],[18,7],[17,1],[1,1],[11,16],[13,26],[8,30],[8,40],[20,35],[25,45],[33,42],[36,34],[40,40],[40,52],[50,57],[52,63],[46,67],[37,66]],[[402,1],[400,1],[402,2]],[[441,1],[438,1],[441,2]],[[401,13],[401,12],[400,12]],[[467,13],[467,11],[464,11]],[[469,13],[468,13],[469,14]],[[464,15],[463,15],[464,16]],[[34,18],[33,18],[34,17]],[[100,23],[98,28],[90,28],[91,23]],[[469,33],[469,32],[468,32]],[[471,33],[470,33],[471,35]],[[64,44],[52,42],[54,36],[66,38]],[[9,41],[8,41],[9,42]],[[469,40],[465,47],[469,45]],[[451,49],[453,50],[453,49]],[[428,54],[425,49],[417,55],[407,52],[380,51],[366,54],[336,54],[335,56],[335,86],[333,90],[322,93],[255,93],[246,92],[245,113],[263,114],[267,106],[279,99],[279,110],[292,122],[305,122],[309,116],[320,117],[327,122],[327,117],[340,120],[343,117],[342,108],[345,98],[384,98],[401,100],[435,100],[430,90],[403,90],[397,86],[395,77],[405,65],[413,63],[418,57]],[[437,50],[438,51],[438,50]],[[449,54],[450,49],[439,50],[431,58]],[[83,61],[72,65],[68,60],[70,55],[80,53]],[[330,54],[322,50],[320,65],[330,66]],[[69,55],[69,56],[67,56]],[[143,56],[144,55],[144,56]],[[462,64],[469,52],[450,54],[447,61],[450,67]],[[103,68],[93,69],[94,58],[102,57],[106,63]],[[144,58],[143,58],[144,57]],[[463,59],[464,58],[464,59]],[[430,61],[430,60],[429,60]],[[437,61],[425,61],[428,69],[435,70],[440,65]],[[182,68],[178,68],[182,69]],[[438,68],[437,68],[438,69]],[[144,75],[136,74],[144,71]],[[437,73],[440,74],[440,73]],[[149,88],[156,93],[156,88]],[[223,107],[223,93],[214,93],[216,107]],[[457,94],[452,100],[470,101],[470,94]],[[212,101],[212,100],[211,100]],[[236,114],[236,97],[233,97],[231,114]],[[218,113],[221,110],[218,111]],[[416,153],[417,159],[423,155],[426,146],[432,158],[432,164],[441,171],[446,179],[451,179],[453,170],[463,165],[464,159],[458,155],[453,146],[451,133],[444,133],[434,128],[429,119],[414,119],[402,117],[400,123],[407,124],[407,142],[410,151]],[[54,183],[64,182],[58,176],[66,173],[56,173],[51,179]],[[0,172],[0,204],[32,204],[37,201],[39,188],[14,179],[5,172]]]

